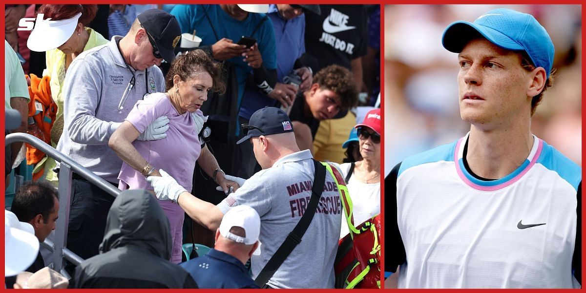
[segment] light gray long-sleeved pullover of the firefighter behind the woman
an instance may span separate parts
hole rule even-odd
[[[109,182],[118,182],[122,160],[108,147],[108,139],[134,104],[149,93],[165,91],[156,66],[135,71],[135,84],[118,110],[132,79],[114,36],[106,45],[81,53],[67,69],[63,86],[64,127],[57,150]],[[145,78],[145,71],[148,71]]]

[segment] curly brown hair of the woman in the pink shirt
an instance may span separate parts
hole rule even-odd
[[[169,90],[173,87],[173,76],[177,74],[182,81],[195,77],[199,71],[207,71],[212,76],[213,91],[222,94],[226,91],[226,83],[222,76],[222,64],[213,62],[203,50],[196,49],[185,52],[176,57],[165,77],[165,87]]]

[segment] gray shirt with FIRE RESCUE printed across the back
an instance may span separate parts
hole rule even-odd
[[[248,205],[260,215],[261,245],[251,257],[253,278],[301,219],[311,197],[313,181],[311,152],[296,152],[254,174],[217,205],[224,214],[233,206]],[[325,182],[314,219],[301,243],[268,281],[271,287],[333,288],[333,261],[338,249],[342,203],[338,188],[327,171]]]

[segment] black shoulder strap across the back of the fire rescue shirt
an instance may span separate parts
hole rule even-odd
[[[309,204],[307,205],[307,209],[297,226],[289,233],[285,241],[281,244],[279,249],[272,255],[271,259],[268,260],[268,263],[264,266],[263,270],[258,274],[256,280],[256,284],[258,287],[263,288],[265,284],[267,284],[268,280],[275,274],[281,264],[287,259],[291,251],[297,246],[297,244],[301,243],[301,239],[305,234],[305,231],[309,227],[311,220],[314,219],[315,210],[318,207],[319,197],[321,197],[323,192],[323,186],[325,185],[326,179],[326,168],[322,165],[319,161],[314,159],[314,166],[315,166],[315,175],[314,175],[314,185],[311,188],[311,199],[309,200]]]

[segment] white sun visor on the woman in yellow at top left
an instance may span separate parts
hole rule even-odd
[[[63,45],[73,35],[80,16],[81,12],[77,13],[73,18],[60,21],[43,20],[35,23],[35,29],[30,32],[26,46],[31,51],[45,52]]]

